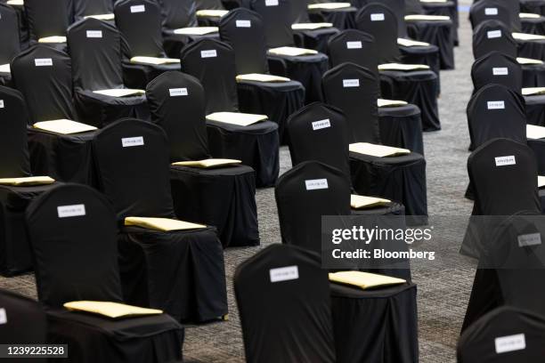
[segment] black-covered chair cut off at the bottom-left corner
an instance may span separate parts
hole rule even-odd
[[[47,319],[45,311],[26,296],[0,289],[0,340],[5,344],[47,343]],[[45,363],[47,359],[17,359],[21,363]]]

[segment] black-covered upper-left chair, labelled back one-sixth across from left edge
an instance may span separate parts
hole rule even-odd
[[[94,93],[125,88],[122,40],[117,28],[89,18],[70,26],[67,38],[79,120],[100,128],[123,117],[149,118],[142,94],[111,97]]]

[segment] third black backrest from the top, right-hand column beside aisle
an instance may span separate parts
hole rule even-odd
[[[471,79],[475,92],[484,85],[505,85],[520,93],[523,87],[522,67],[515,58],[500,52],[490,52],[479,58],[471,67]]]

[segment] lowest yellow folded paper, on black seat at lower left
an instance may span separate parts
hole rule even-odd
[[[62,306],[70,311],[93,312],[94,314],[103,315],[113,319],[158,315],[163,313],[163,311],[157,309],[140,308],[138,306],[126,305],[125,303],[111,302],[79,301],[64,303]]]

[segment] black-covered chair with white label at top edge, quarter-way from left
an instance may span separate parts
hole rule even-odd
[[[166,58],[163,48],[161,9],[151,0],[123,0],[114,4],[116,27],[126,39],[123,62],[125,85],[144,89],[150,81],[167,70],[178,70],[177,62],[146,64],[132,62],[133,57]]]

